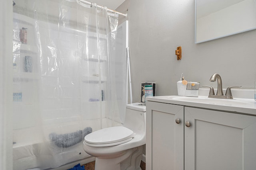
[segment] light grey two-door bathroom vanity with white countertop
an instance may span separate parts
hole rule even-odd
[[[256,168],[256,102],[199,96],[147,98],[147,170]]]

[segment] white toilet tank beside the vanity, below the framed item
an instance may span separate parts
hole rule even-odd
[[[126,105],[124,127],[134,133],[146,133],[146,106],[141,103]]]

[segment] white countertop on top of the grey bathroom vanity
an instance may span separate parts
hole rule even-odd
[[[232,90],[233,93],[233,90]],[[201,93],[204,94],[204,93]],[[236,96],[234,95],[236,94]],[[241,95],[240,95],[241,94]],[[247,96],[245,94],[248,94]],[[252,95],[251,95],[252,94]],[[200,92],[199,92],[200,95]],[[184,96],[154,96],[147,97],[147,101],[176,104],[190,107],[200,107],[234,113],[256,115],[256,101],[252,99],[254,90],[236,90],[234,99],[215,99],[208,96],[184,97]],[[209,100],[208,100],[209,99]],[[216,101],[216,102],[215,102]]]

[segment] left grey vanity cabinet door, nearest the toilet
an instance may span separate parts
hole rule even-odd
[[[184,107],[147,102],[146,169],[184,169]],[[180,119],[180,123],[176,123]]]

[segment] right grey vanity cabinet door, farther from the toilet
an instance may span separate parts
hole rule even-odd
[[[185,107],[185,170],[256,169],[256,116]]]

